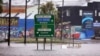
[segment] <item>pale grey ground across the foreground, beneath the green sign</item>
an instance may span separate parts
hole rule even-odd
[[[62,48],[63,45],[63,48]],[[50,44],[46,44],[47,50],[43,49],[43,44],[39,44],[39,51],[36,50],[36,43],[21,44],[0,43],[0,56],[100,56],[100,44],[81,44],[81,47],[67,48],[66,44],[53,44],[53,50],[50,51]],[[66,47],[66,48],[65,48]]]

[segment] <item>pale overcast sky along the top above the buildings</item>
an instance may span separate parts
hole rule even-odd
[[[12,5],[13,6],[19,6],[19,5],[25,5],[25,0],[11,0],[12,1]],[[28,1],[28,5],[34,5],[37,3],[38,0],[27,0]],[[63,0],[40,0],[41,4],[45,3],[47,1],[53,1],[54,4],[61,6],[62,5],[62,1]],[[87,3],[87,1],[89,2],[93,2],[93,1],[98,1],[100,2],[100,0],[64,0],[64,5],[65,6],[82,6],[84,4]],[[3,0],[4,3],[9,3],[9,0]]]

